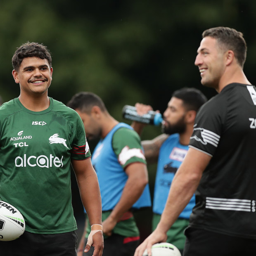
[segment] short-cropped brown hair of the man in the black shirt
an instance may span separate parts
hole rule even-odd
[[[247,54],[247,45],[243,38],[243,33],[234,28],[216,27],[206,29],[202,33],[202,38],[210,36],[215,38],[223,50],[232,50],[238,64],[243,68]]]

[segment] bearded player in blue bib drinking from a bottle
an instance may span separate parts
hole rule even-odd
[[[196,113],[206,101],[207,99],[202,92],[195,88],[176,90],[164,111],[163,134],[153,140],[142,141],[147,163],[158,161],[154,187],[152,230],[155,230],[160,221],[173,177],[187,154]],[[149,105],[136,103],[135,106],[140,114],[152,110]],[[139,133],[142,132],[144,126],[145,124],[142,123],[132,123],[132,127]],[[194,205],[195,197],[193,196],[167,232],[166,242],[178,247],[181,254],[186,239],[184,230],[189,224]]]

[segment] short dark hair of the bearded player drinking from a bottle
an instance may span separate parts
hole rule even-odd
[[[203,105],[207,98],[205,95],[196,88],[187,88],[176,90],[173,92],[172,97],[183,100],[183,105],[187,110],[197,111]]]

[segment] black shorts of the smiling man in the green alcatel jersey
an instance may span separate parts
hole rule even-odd
[[[76,256],[75,231],[62,234],[24,232],[13,241],[0,242],[1,256]]]

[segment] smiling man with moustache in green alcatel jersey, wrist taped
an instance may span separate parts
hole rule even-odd
[[[20,95],[0,107],[0,200],[19,209],[26,230],[14,241],[0,242],[1,255],[76,256],[72,164],[90,223],[99,224],[92,226],[94,235],[85,249],[93,243],[95,256],[101,256],[97,175],[81,118],[47,96],[51,62],[47,47],[38,43],[21,45],[12,57],[12,75],[20,85]]]

